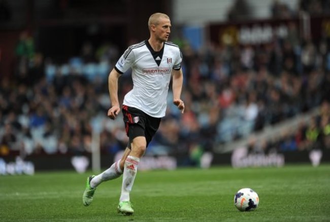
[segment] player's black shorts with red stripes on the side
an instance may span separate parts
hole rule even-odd
[[[161,118],[151,117],[142,110],[127,105],[123,105],[122,112],[126,134],[129,137],[127,147],[130,149],[130,143],[138,136],[146,137],[148,146],[159,128]]]

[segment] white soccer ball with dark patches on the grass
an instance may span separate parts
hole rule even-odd
[[[259,204],[258,194],[250,188],[243,188],[235,194],[234,204],[240,211],[254,210]]]

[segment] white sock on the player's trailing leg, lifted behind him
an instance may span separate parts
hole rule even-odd
[[[118,178],[122,174],[119,163],[120,160],[113,163],[109,169],[93,177],[92,180],[90,180],[90,187],[96,188],[98,185],[100,185],[100,183],[104,181]]]

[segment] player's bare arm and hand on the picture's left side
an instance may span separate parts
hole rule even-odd
[[[118,101],[118,79],[121,76],[116,69],[112,69],[108,77],[108,88],[111,99],[111,108],[108,110],[108,117],[112,120],[116,119],[120,112]]]

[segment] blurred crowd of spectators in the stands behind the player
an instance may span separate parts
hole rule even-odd
[[[329,147],[330,42],[299,37],[292,26],[285,39],[263,45],[215,46],[183,53],[185,113],[168,96],[167,116],[147,153],[186,154],[190,161],[205,151],[245,138],[322,105],[322,113],[296,132],[254,149]],[[34,49],[22,33],[15,49],[14,81],[0,86],[0,156],[75,154],[91,151],[100,135],[101,151],[123,150],[128,142],[122,118],[107,118],[108,73],[120,56],[116,46],[84,44],[79,57],[59,64]],[[131,89],[130,71],[119,80],[119,100]],[[257,147],[256,147],[257,146]]]

